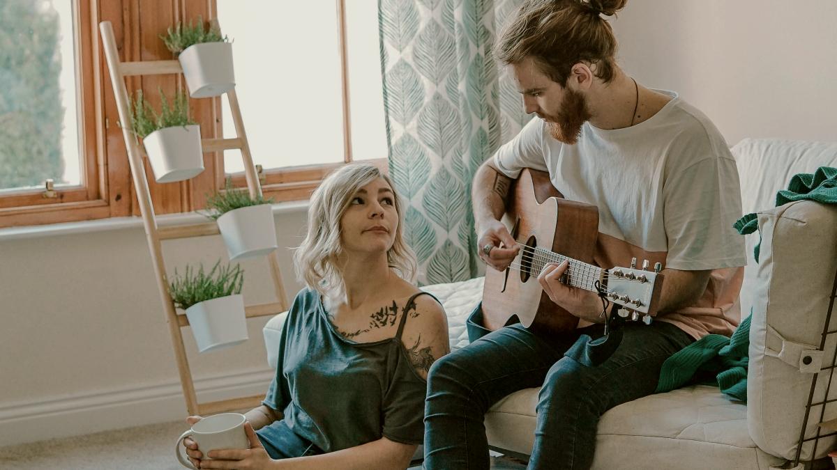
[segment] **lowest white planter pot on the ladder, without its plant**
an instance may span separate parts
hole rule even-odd
[[[199,352],[220,350],[247,340],[241,294],[204,300],[186,309]]]

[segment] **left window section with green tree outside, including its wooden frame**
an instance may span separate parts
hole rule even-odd
[[[0,227],[107,217],[90,115],[90,6],[0,3]],[[53,183],[47,192],[45,182]],[[50,215],[51,214],[51,215]]]

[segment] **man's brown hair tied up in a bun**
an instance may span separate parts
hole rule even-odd
[[[601,15],[612,16],[628,0],[526,0],[503,28],[495,57],[519,64],[531,57],[553,82],[567,86],[573,65],[588,62],[608,83],[614,78],[618,45]]]

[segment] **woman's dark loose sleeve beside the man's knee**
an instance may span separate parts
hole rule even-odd
[[[424,396],[427,382],[418,375],[393,381],[383,399],[383,436],[393,442],[424,442]]]

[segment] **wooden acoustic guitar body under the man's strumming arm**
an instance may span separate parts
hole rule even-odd
[[[598,236],[597,207],[563,199],[552,186],[548,173],[528,168],[521,171],[511,192],[507,213],[515,225],[511,236],[518,243],[593,263]],[[513,263],[525,265],[527,259],[531,256],[526,256],[521,249]],[[502,328],[514,315],[527,328],[546,334],[562,333],[578,326],[578,317],[549,299],[537,282],[537,274],[515,269],[501,272],[485,268],[482,310],[485,328],[489,330]]]

